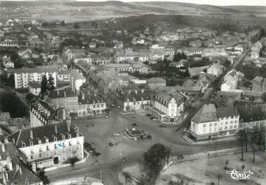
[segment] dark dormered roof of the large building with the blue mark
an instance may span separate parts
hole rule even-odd
[[[32,140],[31,140],[31,131],[32,131]],[[71,135],[71,138],[77,137],[77,131],[73,126],[70,126],[68,131],[68,126],[66,122],[59,124],[48,124],[45,126],[38,126],[33,128],[26,128],[20,131],[17,131],[8,136],[8,141],[13,142],[15,140],[15,145],[18,148],[22,147],[22,141],[25,143],[25,147],[30,146],[30,140],[33,142],[33,145],[39,145],[38,140],[41,140],[42,143],[45,143],[45,137],[51,142],[54,141],[54,136],[57,137],[57,141],[62,140],[61,135],[68,137],[68,133]],[[81,133],[78,135],[82,136]]]

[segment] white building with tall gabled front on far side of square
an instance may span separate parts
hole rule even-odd
[[[152,99],[149,113],[159,121],[175,123],[184,112],[185,100],[177,91],[159,91]]]

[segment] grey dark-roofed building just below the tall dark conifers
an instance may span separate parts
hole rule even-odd
[[[50,91],[49,98],[56,108],[66,108],[68,112],[77,112],[77,95],[72,89]]]

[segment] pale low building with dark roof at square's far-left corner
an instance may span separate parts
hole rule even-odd
[[[77,116],[98,116],[106,110],[106,103],[103,98],[96,94],[81,94],[78,96]]]

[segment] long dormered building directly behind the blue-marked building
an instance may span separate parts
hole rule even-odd
[[[65,108],[54,108],[52,103],[34,101],[29,110],[31,127],[56,124],[68,121],[68,111]]]

